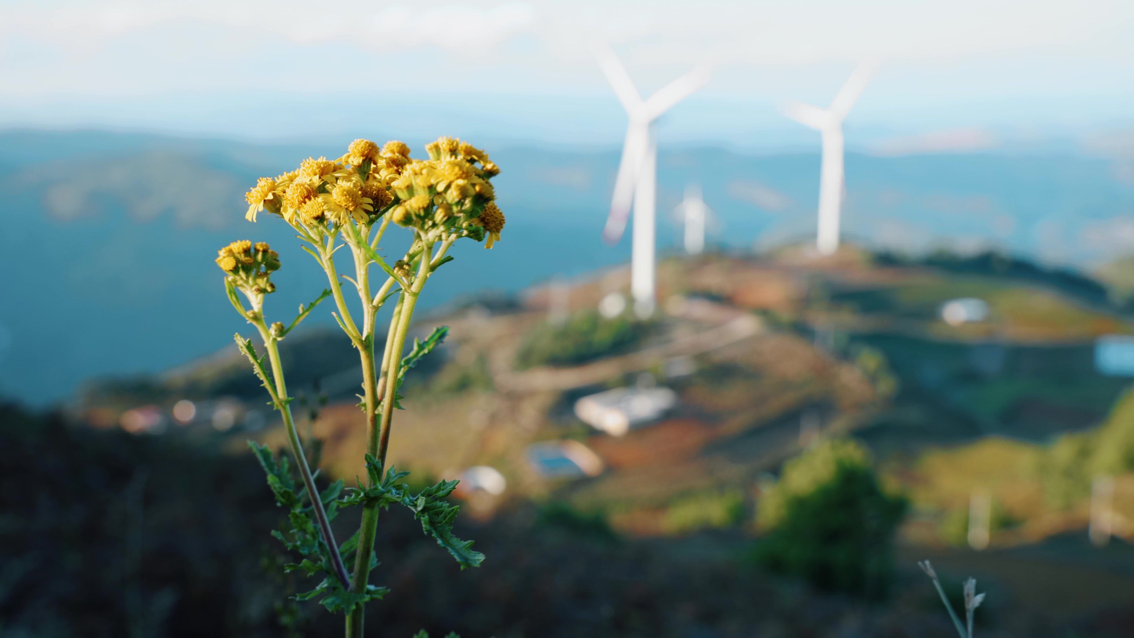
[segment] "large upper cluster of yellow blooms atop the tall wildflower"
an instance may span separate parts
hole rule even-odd
[[[390,219],[421,233],[459,233],[485,247],[500,241],[503,213],[493,203],[489,179],[500,173],[488,153],[467,142],[441,137],[428,144],[428,160],[409,157],[409,146],[355,140],[336,159],[308,158],[297,170],[262,177],[248,191],[247,219],[268,210],[289,224],[321,227]]]

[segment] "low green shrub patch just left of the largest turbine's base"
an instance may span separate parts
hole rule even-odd
[[[540,324],[532,328],[516,354],[516,367],[575,366],[625,352],[640,337],[641,330],[625,317],[606,319],[595,311],[579,312],[562,326]]]

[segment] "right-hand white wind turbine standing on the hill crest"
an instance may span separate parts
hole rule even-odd
[[[863,62],[850,74],[831,106],[826,109],[788,103],[784,112],[792,119],[823,134],[823,160],[819,177],[819,233],[815,245],[820,254],[832,254],[839,247],[839,212],[843,207],[843,119],[850,112],[858,95],[870,83],[877,61]]]

